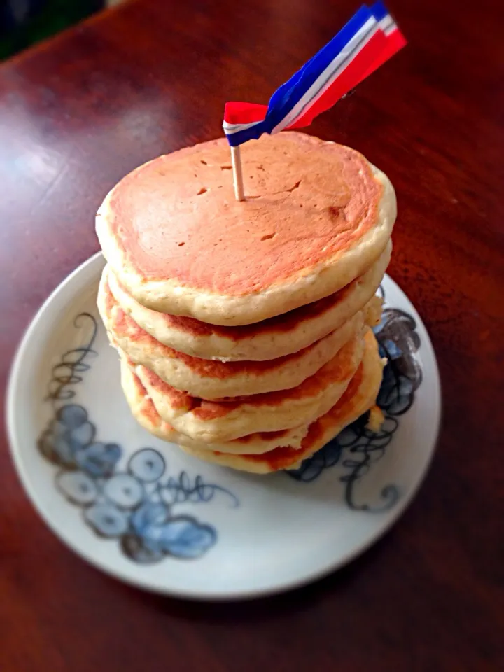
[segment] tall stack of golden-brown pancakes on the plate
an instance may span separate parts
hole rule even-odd
[[[157,158],[107,195],[98,305],[132,413],[203,460],[296,468],[374,407],[391,183],[296,132]]]

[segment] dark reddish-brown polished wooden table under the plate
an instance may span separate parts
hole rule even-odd
[[[419,495],[318,584],[183,603],[99,573],[48,531],[0,451],[2,672],[495,671],[503,645],[503,39],[499,3],[391,2],[409,47],[311,132],[391,177],[390,272],[439,358],[444,419]],[[98,249],[121,176],[267,102],[350,0],[139,0],[0,67],[0,379],[34,312]],[[3,409],[3,403],[1,404]]]

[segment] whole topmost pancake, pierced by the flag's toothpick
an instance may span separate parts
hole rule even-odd
[[[221,138],[135,169],[106,196],[97,235],[141,304],[245,325],[337,292],[384,251],[396,215],[384,173],[351,148],[282,132],[241,148],[233,195]]]

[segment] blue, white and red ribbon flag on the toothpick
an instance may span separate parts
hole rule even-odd
[[[363,79],[384,64],[406,40],[382,2],[363,5],[313,58],[277,89],[269,104],[228,102],[223,129],[232,147],[309,126]]]

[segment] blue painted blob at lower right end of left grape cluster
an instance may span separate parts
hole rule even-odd
[[[194,518],[180,516],[172,518],[162,526],[161,548],[177,558],[198,558],[216,542],[216,531],[209,525],[202,525]]]

